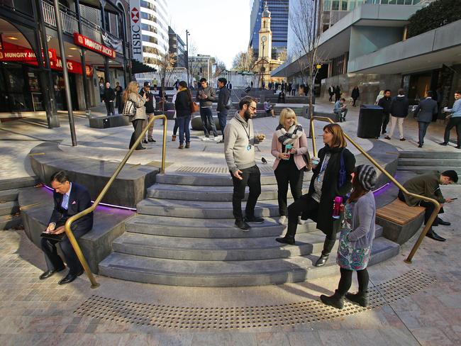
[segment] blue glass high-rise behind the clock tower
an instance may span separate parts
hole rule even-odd
[[[259,54],[261,15],[262,11],[264,11],[265,2],[267,2],[272,17],[272,58],[277,59],[279,52],[287,50],[289,0],[251,1],[249,46],[254,50],[255,56],[257,56]]]

